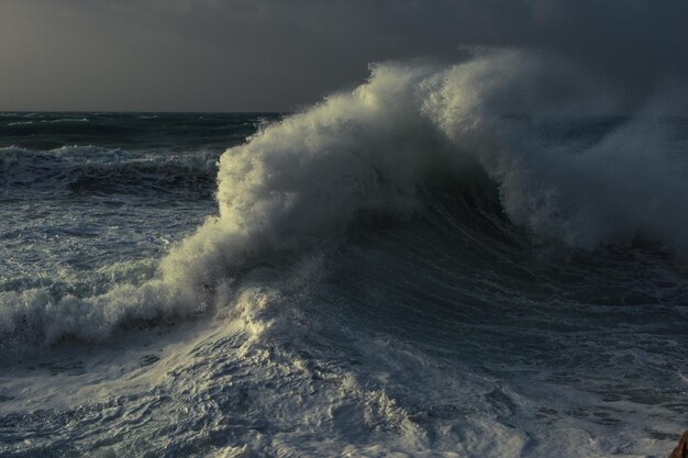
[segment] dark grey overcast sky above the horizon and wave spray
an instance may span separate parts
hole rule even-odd
[[[290,111],[462,45],[554,52],[640,100],[688,81],[688,1],[0,0],[0,111]]]

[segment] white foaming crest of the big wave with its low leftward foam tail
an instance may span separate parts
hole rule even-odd
[[[685,163],[657,118],[630,118],[592,142],[553,143],[541,129],[552,116],[618,107],[609,89],[552,56],[377,65],[353,92],[226,150],[219,216],[171,249],[151,281],[92,298],[2,292],[1,340],[98,340],[127,323],[225,305],[256,271],[341,246],[353,226],[422,219],[425,190],[443,181],[490,188],[492,211],[540,242],[590,250],[642,238],[685,252]]]

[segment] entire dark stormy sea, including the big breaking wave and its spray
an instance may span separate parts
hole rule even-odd
[[[688,120],[589,78],[496,52],[289,115],[0,114],[0,455],[667,455]]]

